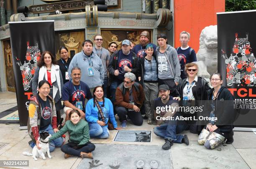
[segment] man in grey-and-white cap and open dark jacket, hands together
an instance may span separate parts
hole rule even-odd
[[[110,83],[110,94],[111,101],[115,101],[115,90],[120,83],[124,81],[124,74],[131,72],[133,74],[137,73],[138,63],[136,54],[131,51],[130,40],[123,40],[122,49],[115,51],[109,61],[108,71],[110,73],[109,83]]]

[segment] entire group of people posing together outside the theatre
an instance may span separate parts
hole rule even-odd
[[[156,106],[181,106],[189,100],[216,100],[211,102],[215,104],[211,114],[221,108],[225,116],[229,116],[228,107],[217,107],[216,104],[217,100],[232,100],[233,96],[221,86],[223,81],[219,73],[210,78],[212,89],[203,78],[197,77],[198,66],[194,63],[197,59],[195,50],[188,45],[188,32],[180,33],[181,46],[177,49],[167,43],[167,36],[163,33],[157,35],[158,47],[149,43],[149,39],[148,31],[143,31],[140,44],[133,48],[130,40],[123,40],[120,50],[115,42],[111,42],[107,50],[102,47],[102,36],[97,34],[94,36],[95,45],[91,40],[85,40],[82,51],[72,59],[68,49],[61,47],[59,61],[55,61],[49,51],[44,51],[33,76],[34,96],[28,107],[30,146],[40,149],[39,134],[48,131],[52,134],[50,151],[61,146],[65,158],[92,158],[95,145],[90,143],[90,137],[106,139],[111,126],[121,129],[115,114],[122,128],[126,128],[127,120],[141,126],[142,114],[147,117],[148,124],[156,121],[159,126],[154,128],[154,133],[165,139],[163,149],[170,149],[174,142],[188,145],[188,137],[178,135],[188,129],[200,134],[198,142],[205,144],[206,148],[217,146],[212,142],[216,137],[221,138],[218,144],[224,139],[227,139],[226,143],[232,143],[231,124],[222,126],[213,121],[201,127],[182,120],[156,120]],[[62,108],[66,119],[57,126]],[[182,112],[162,111],[160,114],[163,117],[182,116]],[[63,145],[61,136],[67,131],[69,142]],[[214,136],[209,136],[212,133]]]

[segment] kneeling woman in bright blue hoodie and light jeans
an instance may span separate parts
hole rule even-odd
[[[85,108],[85,118],[89,123],[90,136],[98,139],[106,139],[109,137],[108,120],[119,130],[115,121],[113,112],[113,104],[108,98],[103,97],[102,86],[96,86]]]

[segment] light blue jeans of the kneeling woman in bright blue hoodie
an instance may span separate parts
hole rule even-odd
[[[90,136],[97,139],[107,139],[109,137],[108,126],[100,126],[97,123],[89,123]]]

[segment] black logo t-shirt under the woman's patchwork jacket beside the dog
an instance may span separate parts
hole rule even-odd
[[[45,130],[51,124],[51,116],[52,116],[51,105],[48,98],[46,99],[46,101],[44,101],[40,96],[38,98],[39,98],[39,102],[42,110],[39,130]]]

